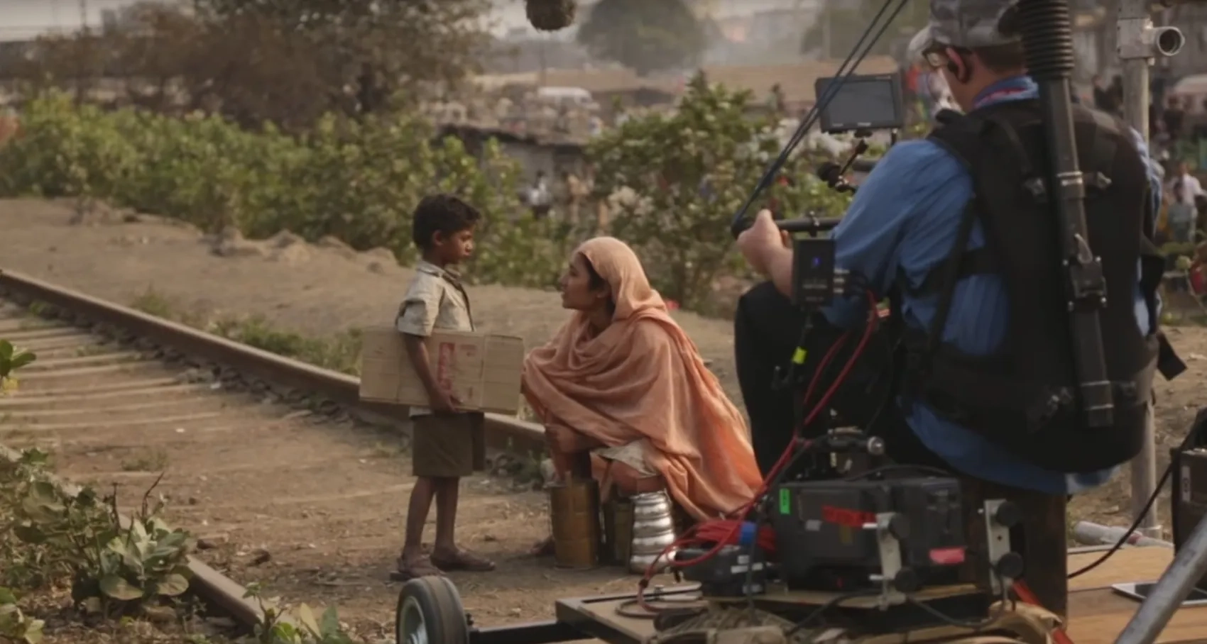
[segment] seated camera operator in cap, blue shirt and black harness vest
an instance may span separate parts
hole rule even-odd
[[[1001,115],[1002,118],[1015,119],[1042,118],[1037,84],[1026,71],[1014,5],[1015,2],[1005,0],[931,0],[931,22],[926,28],[929,34],[925,36],[927,43],[923,53],[928,64],[947,81],[952,98],[968,117]],[[1008,103],[1014,107],[1005,105]],[[1092,215],[1100,217],[1107,212],[1106,217],[1110,223],[1100,221],[1097,226],[1119,227],[1120,230],[1144,230],[1150,236],[1154,229],[1153,215],[1159,210],[1161,185],[1154,174],[1153,163],[1148,159],[1144,140],[1113,117],[1096,115],[1080,106],[1074,109],[1074,122],[1078,127],[1079,150],[1091,142],[1083,137],[1083,125],[1106,123],[1102,131],[1110,145],[1103,150],[1112,150],[1110,156],[1115,159],[1113,164],[1109,159],[1101,159],[1106,168],[1110,168],[1112,192],[1109,200],[1104,199],[1109,204],[1106,206],[1098,204]],[[941,125],[939,129],[946,127]],[[978,150],[974,140],[970,150],[979,154],[981,150]],[[1046,159],[1042,152],[1036,154],[1033,148],[1024,147],[1024,150],[1030,150],[1033,157],[1038,157],[1031,158],[1030,163],[1042,172],[1046,168]],[[985,152],[989,158],[998,162],[1004,154],[1001,150]],[[1088,164],[1084,160],[1086,154],[1083,152],[1079,157],[1083,159],[1081,169],[1086,170]],[[1048,532],[1062,534],[1065,497],[1104,484],[1115,467],[1094,472],[1077,472],[1077,466],[1063,470],[1059,467],[1044,467],[1037,461],[1050,463],[1053,458],[1059,459],[1065,455],[1053,453],[1053,447],[1044,444],[1043,432],[1025,439],[1031,441],[1030,447],[1019,447],[1016,435],[1008,437],[1014,439],[1011,449],[1003,449],[1003,441],[998,440],[1001,435],[995,435],[975,423],[955,420],[957,416],[984,418],[984,415],[949,414],[946,409],[940,412],[937,398],[928,396],[932,391],[927,387],[933,385],[927,380],[929,371],[910,370],[917,364],[919,357],[917,345],[911,343],[910,338],[925,336],[928,332],[934,332],[941,338],[941,350],[950,349],[963,356],[995,353],[1008,340],[1014,353],[1022,352],[1024,356],[1030,356],[1030,352],[1034,352],[1037,363],[1046,359],[1043,352],[1068,353],[1067,345],[1053,351],[1051,340],[1016,341],[1016,338],[1010,335],[1011,321],[1018,318],[1020,308],[1042,306],[1050,299],[1040,298],[1038,294],[1034,299],[1010,297],[1015,289],[1010,288],[1011,285],[1007,282],[1001,267],[993,265],[992,260],[981,262],[980,265],[978,262],[966,260],[976,257],[976,251],[980,248],[991,248],[990,252],[995,254],[1004,248],[1011,260],[1016,256],[1026,256],[1026,250],[1020,248],[1020,245],[1027,245],[1030,240],[1020,240],[1019,234],[1011,233],[1007,223],[1013,221],[1020,222],[1021,226],[1021,222],[1036,217],[1031,212],[1019,213],[1018,209],[999,212],[1003,206],[998,205],[998,201],[976,197],[986,192],[1004,194],[1004,188],[992,185],[995,177],[1002,175],[1001,168],[1002,165],[982,168],[975,162],[969,163],[967,154],[958,153],[947,140],[933,135],[925,140],[898,144],[876,164],[859,187],[841,224],[833,232],[835,263],[838,268],[865,280],[868,288],[877,299],[890,294],[897,295],[893,298],[893,315],[902,326],[900,336],[886,339],[890,343],[899,341],[897,345],[899,351],[886,351],[886,355],[906,359],[892,359],[880,364],[881,370],[890,369],[890,364],[894,368],[897,382],[892,385],[891,393],[896,397],[884,397],[888,404],[881,412],[874,412],[875,425],[868,428],[885,439],[888,456],[898,463],[954,470],[967,479],[984,481],[991,488],[999,486],[996,490],[1015,491],[1015,496],[1038,494],[1044,499],[1059,497],[1060,505],[1050,510],[1048,521],[1057,521],[1055,515],[1059,514],[1060,529]],[[1005,176],[1018,176],[1018,172],[1004,172]],[[1016,189],[1018,185],[1007,188]],[[1039,207],[1046,211],[1049,206],[1034,205],[1032,212]],[[1089,207],[1088,205],[1086,218],[1091,219]],[[962,230],[961,226],[966,211],[975,211],[976,215],[975,219],[968,219],[970,224],[968,232]],[[987,235],[986,221],[1003,222],[996,230],[1007,232],[999,235],[1001,239]],[[1090,222],[1091,230],[1095,223]],[[1055,229],[1053,230],[1046,236],[1037,235],[1033,252],[1050,252],[1051,262],[1056,262],[1059,250]],[[1103,234],[1110,235],[1110,233]],[[1107,256],[1108,252],[1114,252],[1113,248],[1127,247],[1129,244],[1132,251],[1119,251],[1113,257]],[[1136,244],[1137,240],[1131,239],[1121,244],[1108,244],[1106,250],[1101,251],[1095,246],[1095,252],[1103,256],[1103,265],[1108,267],[1108,292],[1112,293],[1112,298],[1115,297],[1114,293],[1120,292],[1110,289],[1110,280],[1120,273],[1115,267],[1125,265],[1124,273],[1127,274],[1126,280],[1131,282],[1132,299],[1121,300],[1123,304],[1119,306],[1124,306],[1124,312],[1120,315],[1127,318],[1127,324],[1131,324],[1130,318],[1135,317],[1139,332],[1130,332],[1136,336],[1135,340],[1130,336],[1112,336],[1108,332],[1116,327],[1108,326],[1107,318],[1112,314],[1103,310],[1101,315],[1107,336],[1103,344],[1108,364],[1112,364],[1113,351],[1139,352],[1142,350],[1136,346],[1137,343],[1144,343],[1144,346],[1155,343],[1153,334],[1156,330],[1159,308],[1155,297],[1156,282],[1153,281],[1150,271],[1142,271],[1138,268],[1142,259],[1139,256],[1143,253],[1135,250]],[[1141,244],[1143,245],[1143,240]],[[788,299],[792,292],[792,250],[786,245],[786,239],[776,228],[770,212],[765,210],[759,212],[753,226],[739,236],[737,245],[750,264],[769,280],[741,298],[735,320],[739,382],[751,416],[756,455],[760,467],[765,469],[789,440],[793,429],[794,398],[799,393],[771,391],[768,384],[772,380],[775,367],[786,364],[798,345],[805,320]],[[957,254],[961,250],[967,252]],[[984,259],[986,254],[989,253],[980,253],[980,258]],[[1127,257],[1124,258],[1123,254]],[[951,258],[961,262],[960,270],[952,277],[951,289],[939,293],[937,291],[941,288],[933,288],[937,275],[932,273],[938,273],[938,269]],[[1137,268],[1135,270],[1126,268],[1132,265]],[[1059,270],[1054,271],[1050,281],[1056,282],[1057,288],[1063,288]],[[1045,294],[1050,288],[1043,285],[1040,287]],[[1057,293],[1055,297],[1060,299],[1063,295]],[[940,304],[944,299],[949,300],[946,303],[949,306],[945,306],[946,310],[940,315],[940,309],[944,308]],[[1037,304],[1037,300],[1040,304]],[[1015,306],[1014,311],[1011,304]],[[1067,320],[1062,305],[1063,301],[1057,301],[1057,309],[1061,309],[1059,315],[1061,320]],[[822,328],[816,333],[820,338],[836,336],[833,329],[862,327],[868,315],[867,306],[863,297],[836,300],[822,311],[823,320],[818,320]],[[1109,309],[1109,311],[1116,310],[1116,308]],[[1038,315],[1051,317],[1057,314]],[[945,317],[945,324],[933,329],[932,324],[937,316],[940,320]],[[810,351],[810,355],[815,353],[816,351]],[[922,357],[932,359],[932,356],[937,356],[933,359],[938,361],[941,351]],[[1151,356],[1144,355],[1143,359],[1149,362],[1155,359],[1155,349]],[[1151,368],[1148,369],[1150,377]],[[925,384],[916,386],[917,380]],[[968,387],[975,385],[972,381],[967,384]],[[961,397],[958,386],[952,394],[957,399]],[[1145,398],[1149,396],[1148,388],[1143,396]],[[879,399],[862,400],[865,408],[877,403]],[[1138,409],[1143,410],[1145,403],[1138,404]],[[1020,414],[1022,411],[1019,410]],[[1120,414],[1116,411],[1116,417]],[[1132,431],[1132,428],[1126,429],[1126,432]],[[1019,435],[1025,432],[1026,428],[1018,428]],[[1143,422],[1135,428],[1135,432],[1143,435]],[[1096,449],[1095,439],[1088,439],[1084,449]],[[1126,458],[1125,456],[1115,462],[1121,463]],[[1028,558],[1028,569],[1059,567],[1057,570],[1046,573],[1053,579],[1060,575],[1059,589],[1053,587],[1056,581],[1051,581],[1046,589],[1040,587],[1043,585],[1040,582],[1031,585],[1045,607],[1063,613],[1065,545],[1063,543],[1057,545],[1059,552],[1054,545],[1044,549],[1042,555],[1034,552],[1034,556],[1026,554],[1024,556]],[[1031,576],[1030,573],[1027,576]]]

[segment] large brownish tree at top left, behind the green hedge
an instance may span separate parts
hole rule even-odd
[[[104,34],[46,41],[29,80],[104,76],[159,111],[202,109],[245,127],[305,129],[325,112],[365,116],[460,82],[486,42],[486,0],[196,0],[145,2]],[[91,58],[97,58],[95,55]]]

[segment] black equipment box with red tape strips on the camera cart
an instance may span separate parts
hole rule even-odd
[[[923,586],[954,584],[968,541],[960,481],[794,481],[772,497],[780,579],[793,590],[875,587],[881,573],[876,515],[896,513],[900,563]]]

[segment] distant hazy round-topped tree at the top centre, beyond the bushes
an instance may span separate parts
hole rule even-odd
[[[692,65],[707,41],[683,0],[600,0],[578,28],[578,42],[643,76]]]

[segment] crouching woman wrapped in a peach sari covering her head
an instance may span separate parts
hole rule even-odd
[[[760,482],[746,421],[632,248],[588,240],[560,287],[575,312],[529,353],[523,380],[558,476],[594,475],[605,494],[666,490],[695,520],[746,504]],[[552,546],[546,539],[533,554]]]

